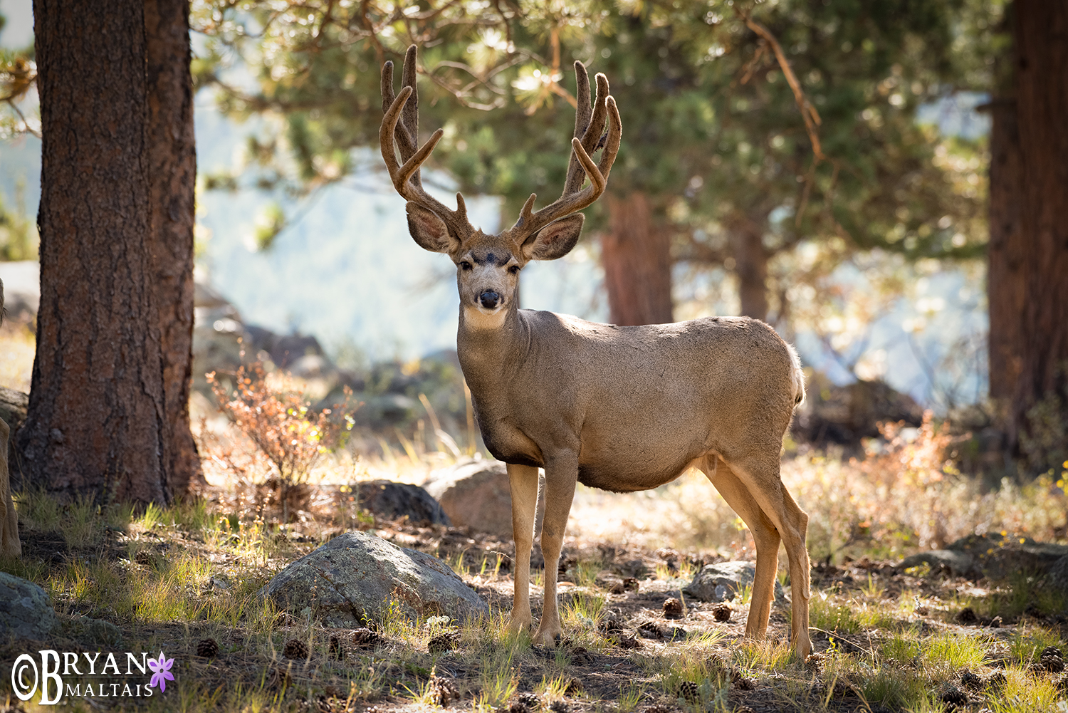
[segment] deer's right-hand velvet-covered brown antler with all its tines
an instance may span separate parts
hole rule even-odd
[[[567,168],[567,180],[564,182],[564,192],[554,202],[540,211],[534,211],[536,193],[531,193],[519,214],[519,220],[513,226],[513,235],[523,243],[533,237],[539,230],[553,220],[570,215],[576,211],[591,205],[600,198],[608,185],[608,174],[612,170],[615,155],[619,151],[619,139],[623,136],[623,122],[615,99],[608,94],[608,77],[597,75],[597,96],[593,107],[590,106],[590,76],[582,62],[575,63],[576,98],[578,107],[575,114],[575,135],[571,138],[571,160]],[[611,115],[612,124],[608,136],[601,134],[604,120]],[[603,142],[600,165],[594,165],[590,154],[594,153]],[[582,191],[579,187],[585,177],[590,185]]]

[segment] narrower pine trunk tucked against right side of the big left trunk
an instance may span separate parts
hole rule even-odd
[[[193,343],[193,224],[197,146],[189,74],[188,0],[145,0],[147,151],[152,258],[159,305],[167,467],[175,495],[203,485],[189,431]]]

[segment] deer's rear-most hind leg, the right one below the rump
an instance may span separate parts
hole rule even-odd
[[[779,475],[779,452],[774,458],[751,456],[731,463],[731,468],[749,489],[753,499],[779,530],[790,565],[791,638],[802,658],[812,652],[808,638],[808,551],[805,533],[808,515],[798,507]]]

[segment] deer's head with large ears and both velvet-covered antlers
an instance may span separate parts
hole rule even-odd
[[[584,216],[577,213],[596,201],[608,185],[608,175],[619,150],[623,126],[615,99],[608,94],[608,79],[597,75],[597,95],[590,103],[590,78],[581,62],[575,63],[578,109],[571,138],[571,158],[564,191],[554,202],[534,210],[532,193],[516,223],[497,235],[474,228],[468,220],[464,196],[456,193],[452,211],[429,196],[420,180],[420,167],[434,151],[443,131],[439,128],[419,146],[419,95],[415,89],[415,46],[405,56],[400,93],[393,93],[393,62],[382,65],[382,158],[393,187],[407,201],[408,231],[420,247],[443,252],[456,264],[462,308],[484,315],[501,314],[515,307],[519,270],[531,260],[562,258],[579,239]],[[611,115],[606,134],[604,124]],[[603,146],[600,164],[590,154]],[[399,150],[400,161],[396,154]],[[402,162],[403,161],[403,162]],[[582,188],[585,179],[590,185]]]

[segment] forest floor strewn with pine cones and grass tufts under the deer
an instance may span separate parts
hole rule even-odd
[[[788,605],[774,606],[767,640],[752,641],[742,637],[747,590],[729,603],[727,621],[718,620],[714,605],[680,592],[701,564],[745,558],[743,530],[718,549],[660,547],[656,537],[603,528],[626,528],[621,509],[623,517],[639,509],[655,514],[662,498],[631,511],[580,493],[562,568],[566,638],[545,649],[504,631],[511,541],[374,522],[355,511],[340,522],[346,492],[316,486],[298,522],[284,528],[238,517],[233,493],[221,490],[140,514],[23,496],[23,557],[0,570],[49,591],[68,631],[83,631],[75,624],[87,617],[115,624],[122,639],[103,650],[162,651],[176,660],[175,680],[151,698],[66,696],[62,704],[253,713],[1068,710],[1065,675],[1045,670],[1049,647],[1064,651],[1068,638],[1065,599],[1040,578],[971,582],[926,568],[901,571],[890,560],[846,556],[834,565],[828,558],[812,572],[817,653],[801,662],[787,641]],[[582,523],[600,529],[591,536]],[[256,598],[277,571],[351,527],[441,557],[489,603],[491,616],[460,625],[388,617],[376,622],[378,645],[367,647],[355,644],[351,631],[295,619]],[[533,590],[537,618],[540,588]],[[665,615],[670,599],[681,599],[685,611]],[[995,616],[999,627],[984,625]],[[429,639],[441,633],[453,634],[455,649],[431,653]],[[211,646],[206,639],[218,645],[213,656],[198,655]],[[76,634],[12,641],[0,645],[0,661],[45,648],[95,651],[101,642]],[[0,710],[37,709],[36,698],[22,703],[0,681]]]

